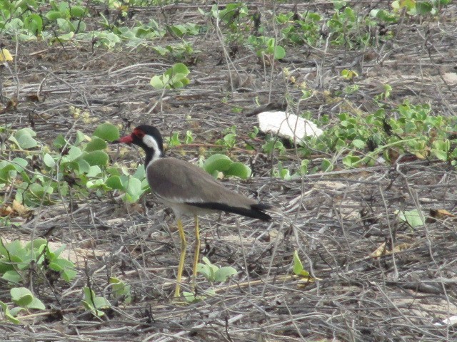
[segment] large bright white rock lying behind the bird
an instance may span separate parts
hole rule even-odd
[[[305,137],[318,137],[323,133],[315,123],[286,112],[262,112],[257,118],[261,132],[277,134],[295,142],[300,142]]]

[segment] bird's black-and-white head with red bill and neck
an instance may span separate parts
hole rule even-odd
[[[125,144],[135,144],[146,152],[146,162],[148,165],[151,160],[164,156],[164,142],[159,130],[150,125],[139,125],[131,135],[126,135],[114,143],[124,142]]]

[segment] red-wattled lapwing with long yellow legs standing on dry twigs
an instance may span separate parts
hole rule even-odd
[[[271,206],[259,203],[255,199],[240,195],[227,189],[200,167],[171,157],[164,157],[162,136],[157,128],[140,125],[131,135],[114,141],[135,144],[146,152],[146,177],[151,191],[176,216],[179,237],[181,239],[181,257],[179,258],[178,276],[174,296],[180,295],[181,276],[186,258],[186,237],[181,222],[182,215],[194,215],[195,254],[193,267],[193,286],[195,285],[197,263],[199,262],[200,237],[198,215],[209,212],[233,212],[254,219],[268,221],[271,217],[265,213]]]

